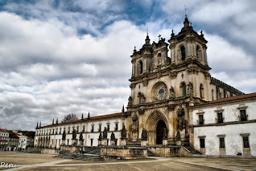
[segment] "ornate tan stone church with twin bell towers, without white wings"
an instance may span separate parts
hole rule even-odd
[[[217,91],[222,89],[226,89],[226,96],[242,93],[211,77],[207,41],[202,31],[198,35],[193,30],[187,16],[180,33],[172,31],[168,42],[159,36],[158,43],[151,44],[147,35],[142,48],[134,49],[130,56],[131,95],[124,112],[130,143],[140,141],[146,129],[149,145],[162,145],[166,134],[168,145],[178,140],[189,145],[189,106],[220,98]],[[171,58],[167,56],[168,47]]]

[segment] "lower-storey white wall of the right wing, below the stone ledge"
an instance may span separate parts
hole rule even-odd
[[[225,135],[226,155],[237,155],[237,153],[243,153],[243,141],[240,135],[243,133],[250,133],[250,152],[252,156],[256,156],[256,123],[197,127],[194,129],[195,149],[200,149],[199,136],[205,136],[205,154],[219,155],[217,135]]]

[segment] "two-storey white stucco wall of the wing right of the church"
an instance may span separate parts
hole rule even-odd
[[[240,109],[246,109],[247,121],[240,122]],[[223,124],[217,124],[217,110],[223,110]],[[204,115],[204,124],[198,126],[198,115]],[[241,134],[249,135],[250,154],[256,156],[256,100],[239,100],[229,103],[209,104],[194,108],[192,124],[194,127],[194,146],[200,150],[200,137],[205,136],[205,154],[219,155],[220,140],[218,135],[225,136],[225,154],[243,154]]]

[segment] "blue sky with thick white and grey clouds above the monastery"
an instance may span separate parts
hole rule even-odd
[[[254,0],[0,0],[0,128],[121,112],[134,46],[147,25],[151,42],[179,33],[184,4],[213,77],[256,92]]]

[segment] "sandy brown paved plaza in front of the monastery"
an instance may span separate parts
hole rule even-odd
[[[0,152],[8,170],[256,170],[256,158],[150,157],[127,161],[77,161],[53,155]],[[3,164],[3,163],[2,163]],[[5,170],[1,167],[0,170]]]

